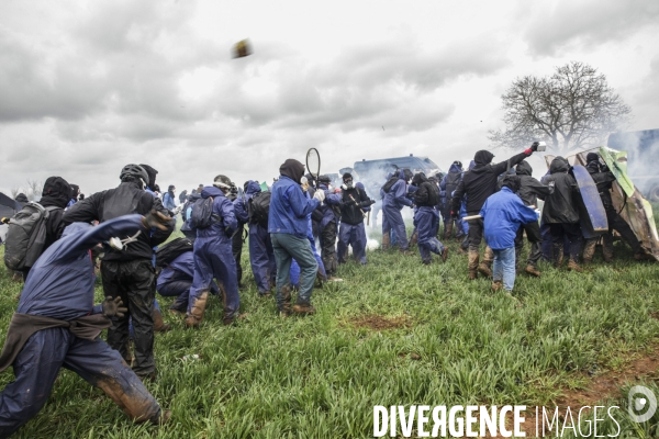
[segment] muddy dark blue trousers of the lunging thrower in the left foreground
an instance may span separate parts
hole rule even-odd
[[[158,420],[160,406],[116,350],[100,338],[89,341],[51,328],[33,334],[13,362],[15,380],[0,393],[0,438],[43,408],[60,368],[101,389],[130,418]]]

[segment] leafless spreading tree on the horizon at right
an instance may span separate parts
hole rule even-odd
[[[577,61],[550,77],[516,79],[501,99],[505,130],[490,131],[494,146],[546,140],[557,154],[603,145],[608,133],[628,123],[632,112],[604,75]]]

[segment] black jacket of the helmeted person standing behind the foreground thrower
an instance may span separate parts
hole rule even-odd
[[[137,181],[132,178],[125,179],[115,189],[97,192],[70,206],[64,214],[64,221],[67,224],[75,222],[90,223],[92,221],[104,222],[133,213],[146,215],[152,210],[169,215],[159,199],[139,188],[141,184]],[[171,232],[174,232],[174,221],[169,222],[167,230],[156,229],[150,233],[150,236],[148,233],[141,233],[137,240],[130,243],[127,248],[122,251],[113,249],[105,251],[103,260],[152,259],[153,247],[165,243]],[[126,237],[120,236],[119,238]]]

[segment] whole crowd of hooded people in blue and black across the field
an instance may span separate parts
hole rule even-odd
[[[581,271],[580,258],[592,262],[597,239],[581,235],[579,185],[562,157],[554,159],[541,181],[533,178],[525,159],[537,146],[499,164],[480,150],[468,169],[454,161],[446,175],[399,169],[381,182],[379,193],[367,193],[349,172],[334,187],[327,176],[305,173],[295,159],[281,165],[271,188],[249,180],[238,190],[220,175],[212,184],[178,198],[175,185],[159,193],[158,172],[148,165],[126,165],[116,188],[87,198],[65,179],[48,178],[38,203],[42,211],[21,223],[23,232],[25,224],[34,234],[41,230],[38,255],[31,248],[16,254],[20,245],[11,228],[7,238],[5,263],[25,283],[0,354],[0,371],[13,365],[15,374],[0,394],[0,438],[43,407],[62,367],[102,389],[131,418],[166,421],[169,413],[142,383],[157,375],[154,334],[170,328],[156,292],[176,297],[169,311],[183,316],[186,327],[200,326],[212,295],[222,300],[223,323],[233,324],[241,318],[241,259],[248,239],[259,296],[275,293],[282,317],[312,315],[315,283],[340,281],[337,268],[348,262],[349,249],[356,263],[367,263],[365,219],[375,199],[381,201],[382,250],[398,247],[410,256],[416,246],[421,262],[432,264],[433,254],[443,261],[448,258],[448,247],[439,239],[456,238],[462,241],[459,251],[468,255],[469,279],[491,278],[493,291],[512,292],[520,272],[539,277],[543,257],[560,268],[567,252],[567,268]],[[587,161],[610,224],[603,235],[604,259],[613,257],[613,230],[636,259],[644,259],[639,240],[613,207],[615,177],[597,154],[589,154]],[[538,199],[545,202],[541,215]],[[414,212],[410,239],[404,207]],[[178,214],[185,238],[165,244]],[[3,222],[18,227],[18,218]],[[524,236],[530,244],[525,262]],[[24,241],[32,246],[32,240]],[[94,269],[105,296],[97,306]],[[103,329],[107,341],[99,338]]]

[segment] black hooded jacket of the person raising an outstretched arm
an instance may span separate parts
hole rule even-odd
[[[528,155],[520,153],[510,159],[496,165],[491,165],[494,155],[488,150],[479,150],[473,157],[476,166],[473,169],[465,172],[462,180],[458,183],[453,198],[451,211],[460,211],[460,202],[463,195],[467,195],[467,215],[477,215],[485,200],[496,191],[496,180],[500,175],[506,171],[509,166],[512,168]]]

